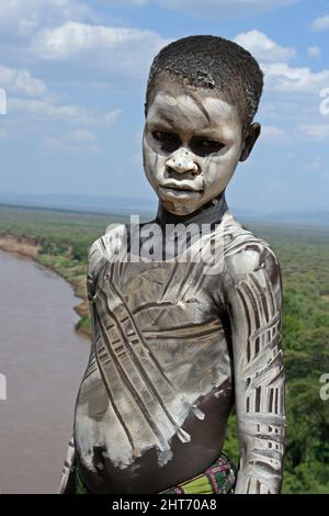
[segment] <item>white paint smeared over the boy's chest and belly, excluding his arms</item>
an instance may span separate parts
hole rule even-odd
[[[107,246],[110,239],[111,234],[106,234],[102,238],[103,245],[95,243],[92,247],[91,274],[93,268],[97,269],[98,261],[102,258],[111,259]],[[202,245],[198,248],[202,250]],[[219,319],[209,317],[208,303],[201,295],[202,289],[197,289],[197,279],[202,277],[203,268],[203,262],[122,263],[120,259],[103,267],[93,296],[93,310],[98,312],[93,334],[94,352],[82,382],[76,413],[79,428],[83,428],[83,439],[78,437],[77,444],[88,468],[93,469],[91,450],[95,445],[105,446],[106,457],[122,469],[129,467],[136,457],[150,448],[158,449],[159,465],[164,465],[172,459],[170,441],[174,435],[178,435],[181,442],[191,440],[182,428],[186,417],[192,413],[196,418],[204,419],[205,414],[197,408],[197,401],[211,391],[215,393],[227,381],[229,359],[227,355],[223,355],[223,326]],[[167,283],[169,278],[171,281]],[[204,282],[209,281],[205,277]],[[147,304],[152,304],[150,310],[140,311]],[[126,317],[128,313],[133,315],[128,317],[127,324],[120,324],[128,337],[125,344],[126,355],[118,358],[120,363],[115,366],[114,360],[111,360],[109,346],[116,343],[113,345],[116,352],[117,343],[123,344],[123,339],[121,330],[113,325],[111,314],[118,319],[123,315]],[[160,321],[156,324],[158,318]],[[182,325],[182,329],[171,330],[171,327]],[[159,332],[164,334],[167,341],[159,343]],[[208,333],[206,338],[198,337],[202,332]],[[179,346],[179,340],[186,338],[186,344]],[[132,355],[128,356],[129,347],[131,354],[134,354],[133,360]],[[196,374],[194,370],[201,361],[204,363]],[[122,381],[121,368],[129,381]],[[143,373],[145,378],[141,378]],[[107,397],[102,414],[99,413],[99,404],[97,415],[91,411],[90,399],[93,391],[98,400],[100,391],[103,391],[102,397],[105,396],[102,385],[104,382],[112,390],[122,419],[129,427],[133,446],[120,418],[113,414]],[[140,395],[139,404],[132,393],[133,389],[127,386],[129,383]],[[154,386],[146,386],[148,383]],[[84,396],[84,392],[88,396]],[[147,423],[145,408],[157,427],[156,431]]]

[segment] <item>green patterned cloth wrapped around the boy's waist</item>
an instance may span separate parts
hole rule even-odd
[[[232,494],[236,483],[236,469],[224,455],[207,468],[204,473],[182,482],[159,494]],[[91,494],[83,483],[81,474],[76,470],[76,494]]]

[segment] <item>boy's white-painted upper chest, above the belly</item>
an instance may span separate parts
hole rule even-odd
[[[111,321],[116,329],[122,326],[125,335],[211,337],[222,327],[214,283],[216,278],[203,274],[200,263],[114,262],[99,278],[97,309],[104,322]]]

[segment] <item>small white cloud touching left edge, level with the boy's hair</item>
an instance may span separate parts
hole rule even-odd
[[[27,96],[41,96],[46,91],[46,85],[39,79],[32,77],[24,69],[7,68],[0,65],[0,87],[14,93]]]

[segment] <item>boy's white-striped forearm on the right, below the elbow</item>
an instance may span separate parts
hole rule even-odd
[[[257,360],[237,379],[240,469],[236,493],[280,493],[285,438],[280,322],[260,333]]]

